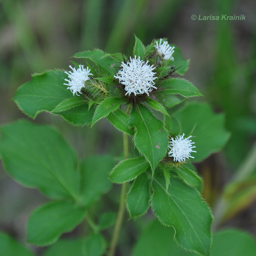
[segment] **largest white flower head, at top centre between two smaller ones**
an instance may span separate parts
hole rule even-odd
[[[140,60],[140,56],[136,58],[130,57],[126,63],[122,62],[121,69],[116,73],[115,78],[118,78],[119,82],[125,85],[124,90],[125,95],[143,94],[151,92],[154,86],[154,80],[157,78],[155,76],[154,65],[149,66],[148,61]]]

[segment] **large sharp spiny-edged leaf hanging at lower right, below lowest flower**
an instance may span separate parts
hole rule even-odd
[[[175,229],[178,244],[188,251],[209,255],[212,214],[199,192],[175,177],[167,192],[163,176],[154,175],[152,186],[153,211],[164,225]]]

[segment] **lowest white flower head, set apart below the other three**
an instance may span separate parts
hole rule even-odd
[[[169,141],[169,148],[171,149],[168,153],[169,156],[174,158],[174,161],[178,162],[184,162],[186,161],[186,158],[189,157],[195,158],[193,156],[190,156],[191,152],[195,152],[192,150],[192,148],[196,148],[196,146],[192,146],[192,144],[195,144],[195,142],[192,142],[192,140],[189,140],[192,136],[189,136],[188,138],[184,138],[185,134],[176,136],[175,139],[171,139]]]

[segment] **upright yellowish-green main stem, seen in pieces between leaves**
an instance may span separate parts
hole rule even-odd
[[[126,114],[129,113],[130,108],[131,108],[131,106],[128,105],[128,107],[125,111]],[[123,133],[123,145],[124,145],[124,159],[128,159],[129,158],[129,140],[128,140],[128,135],[125,133]],[[115,224],[114,233],[112,236],[108,256],[115,255],[116,244],[118,241],[119,232],[120,232],[120,229],[121,229],[121,226],[123,223],[123,219],[124,219],[126,187],[127,187],[127,183],[125,182],[122,184],[119,209],[118,209],[118,213],[117,213],[116,224]]]

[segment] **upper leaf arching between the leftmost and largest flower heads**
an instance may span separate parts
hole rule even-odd
[[[93,51],[78,52],[73,58],[83,58],[85,60],[90,60],[95,63],[100,70],[108,75],[113,75],[116,73],[115,67],[118,66],[116,58],[109,56],[105,52],[95,49]]]

